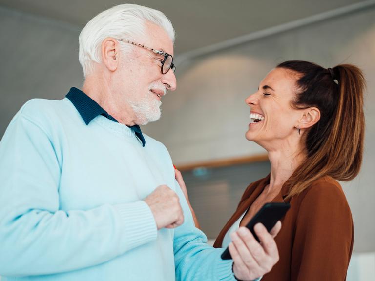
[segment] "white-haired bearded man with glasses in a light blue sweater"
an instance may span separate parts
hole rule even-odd
[[[138,5],[83,28],[82,91],[28,101],[0,144],[0,275],[5,280],[251,280],[278,259],[263,228],[233,261],[194,227],[164,145],[139,125],[176,89],[174,31]],[[276,231],[277,232],[277,231]]]

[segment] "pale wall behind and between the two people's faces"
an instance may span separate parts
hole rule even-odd
[[[368,83],[366,141],[359,176],[343,183],[355,227],[354,251],[375,251],[375,9],[325,20],[190,60],[177,69],[178,89],[146,131],[163,141],[176,164],[244,156],[262,149],[244,138],[245,98],[277,63],[354,63]],[[337,234],[339,235],[339,234]]]

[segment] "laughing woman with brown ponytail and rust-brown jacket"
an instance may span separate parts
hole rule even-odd
[[[249,185],[214,246],[235,253],[239,226],[266,202],[289,202],[275,238],[280,260],[262,281],[345,280],[354,232],[336,180],[354,179],[361,166],[364,88],[354,65],[286,61],[246,99],[246,138],[268,151],[271,172]]]

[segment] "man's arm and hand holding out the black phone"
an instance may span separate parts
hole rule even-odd
[[[235,242],[237,251],[231,250],[234,260],[222,260],[220,256],[224,249],[215,249],[206,243],[206,235],[194,227],[187,201],[178,185],[176,192],[180,197],[185,218],[184,224],[177,227],[174,232],[173,249],[177,281],[234,281],[234,274],[238,279],[255,280],[269,272],[278,261],[275,241],[265,229],[257,231],[257,234],[261,241],[267,241],[266,245],[261,246],[246,229],[245,234],[240,234]],[[274,236],[279,229],[278,224]]]

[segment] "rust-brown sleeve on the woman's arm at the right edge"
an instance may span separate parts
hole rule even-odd
[[[352,215],[342,189],[313,186],[297,216],[291,280],[345,280],[352,246]]]

